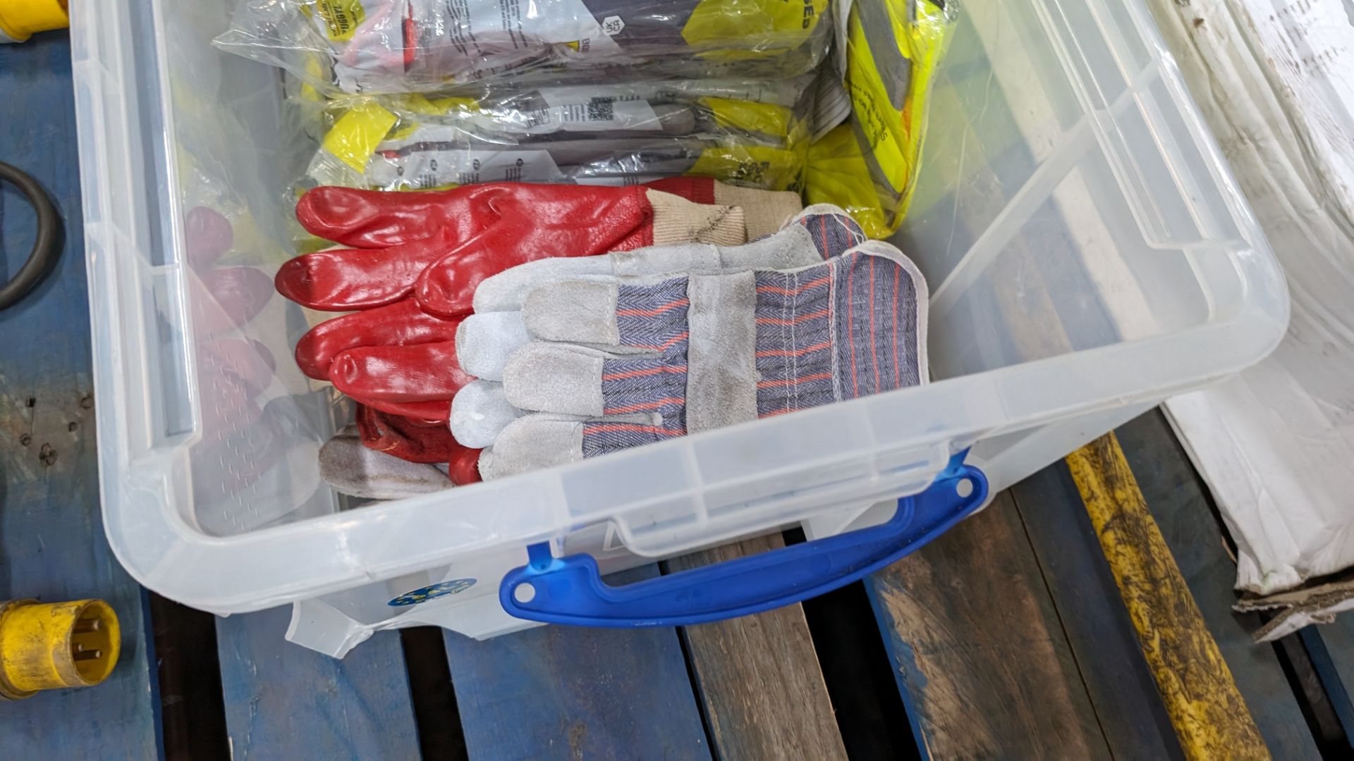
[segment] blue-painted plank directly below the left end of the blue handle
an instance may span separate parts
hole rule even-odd
[[[448,632],[447,655],[477,761],[709,757],[673,628],[548,626],[483,642]]]

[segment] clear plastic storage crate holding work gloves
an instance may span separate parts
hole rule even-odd
[[[930,283],[933,383],[352,505],[320,479],[348,410],[291,362],[305,317],[274,295],[233,320],[288,256],[306,152],[279,137],[279,72],[213,49],[230,5],[72,8],[104,523],[150,589],[295,604],[288,636],[326,653],[528,626],[500,582],[532,546],[608,570],[858,531],[964,450],[995,493],[1284,334],[1281,271],[1140,1],[965,0],[895,240]],[[232,221],[219,259],[198,207]],[[241,352],[248,383],[219,362]]]

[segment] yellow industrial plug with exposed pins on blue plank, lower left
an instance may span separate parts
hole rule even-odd
[[[118,615],[103,600],[0,603],[0,700],[96,685],[121,649]]]

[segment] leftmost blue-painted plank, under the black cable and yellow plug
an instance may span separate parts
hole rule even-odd
[[[142,589],[112,557],[99,512],[85,301],[84,227],[70,47],[64,32],[0,45],[0,161],[37,177],[62,219],[53,272],[0,311],[0,599],[100,597],[122,622],[122,657],[104,684],[0,707],[0,758],[153,758],[158,696]],[[26,202],[0,198],[3,275],[34,236]]]

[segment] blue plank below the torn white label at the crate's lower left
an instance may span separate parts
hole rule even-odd
[[[399,635],[344,659],[287,642],[291,608],[217,620],[233,758],[418,758]]]

